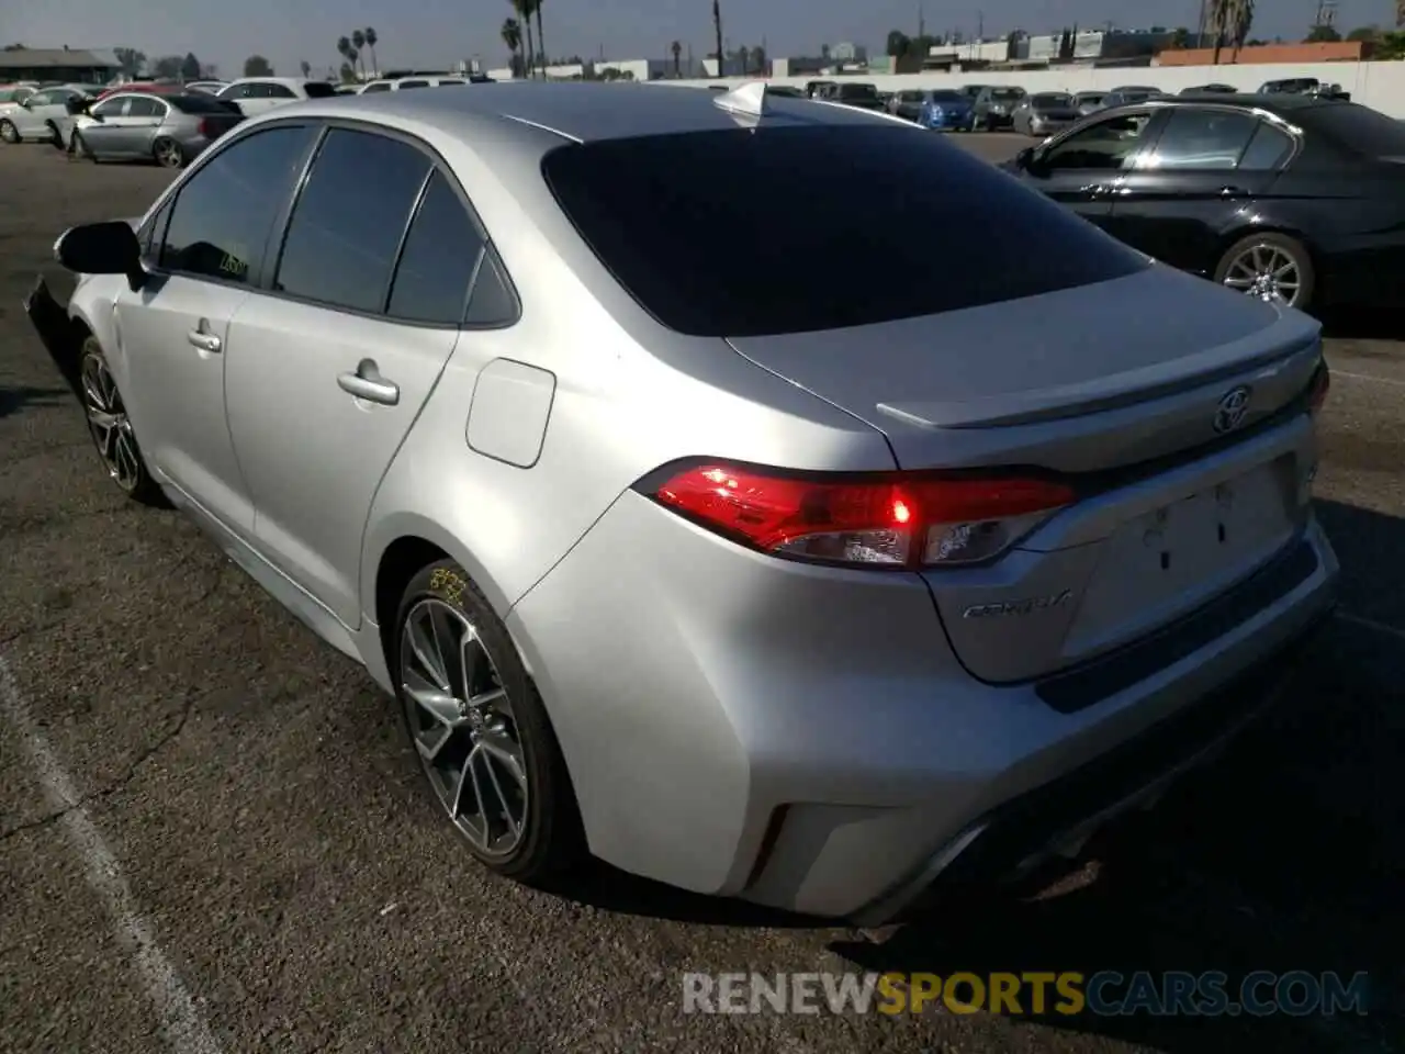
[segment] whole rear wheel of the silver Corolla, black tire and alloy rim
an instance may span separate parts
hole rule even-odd
[[[506,627],[451,559],[409,583],[391,659],[431,801],[486,867],[540,885],[584,856],[570,776]]]

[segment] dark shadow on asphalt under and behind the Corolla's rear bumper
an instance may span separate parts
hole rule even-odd
[[[1343,610],[1391,586],[1398,592],[1405,521],[1322,506],[1345,557]],[[1375,603],[1375,618],[1405,627],[1398,600],[1390,609]],[[1405,1048],[1398,649],[1387,634],[1333,620],[1277,710],[1154,812],[1089,846],[1085,867],[1062,890],[953,901],[887,943],[833,950],[864,970],[939,975],[1224,971],[1231,999],[1252,971],[1336,971],[1343,980],[1366,971],[1366,1016],[1038,1020],[1173,1054]]]

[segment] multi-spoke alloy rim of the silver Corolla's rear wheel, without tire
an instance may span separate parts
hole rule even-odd
[[[426,597],[405,617],[399,665],[406,724],[440,804],[482,856],[510,856],[527,829],[527,762],[476,627]]]

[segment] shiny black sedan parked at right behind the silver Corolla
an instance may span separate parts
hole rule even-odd
[[[1134,249],[1252,297],[1399,302],[1405,124],[1356,103],[1148,100],[1005,169]]]

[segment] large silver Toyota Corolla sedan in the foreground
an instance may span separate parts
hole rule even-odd
[[[1152,800],[1332,601],[1318,325],[889,115],[311,100],[56,254],[105,472],[364,663],[517,878],[891,919]]]

